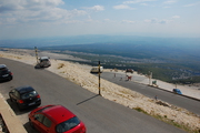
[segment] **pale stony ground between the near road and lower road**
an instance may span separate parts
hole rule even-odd
[[[91,66],[58,60],[60,59],[58,58],[60,54],[54,54],[54,53],[50,54],[47,52],[42,52],[40,53],[40,55],[41,54],[43,55],[48,54],[49,57],[50,55],[53,57],[50,59],[51,66],[47,68],[48,71],[57,73],[93,93],[99,92],[98,78],[90,73]],[[28,63],[31,65],[37,64],[36,53],[34,51],[30,51],[30,50],[4,49],[3,51],[0,51],[0,58],[8,58],[8,59],[21,61],[23,63]],[[71,58],[71,57],[63,55],[63,58]],[[110,71],[110,70],[106,70],[106,71]],[[134,80],[137,81],[137,79]],[[139,81],[146,82],[146,80],[141,80],[141,76],[138,78],[138,82]],[[163,84],[162,81],[159,81],[159,83],[160,86]],[[192,90],[199,92],[198,88],[199,86],[197,88],[192,86]],[[163,101],[158,101],[154,99],[147,98],[138,92],[119,86],[106,80],[103,80],[101,83],[101,90],[102,90],[101,94],[104,99],[117,102],[130,109],[141,111],[159,120],[162,120],[164,122],[184,129],[188,132],[200,133],[200,116],[184,109],[171,105]],[[187,93],[187,91],[183,92]],[[188,93],[191,93],[191,91],[188,91]],[[196,96],[199,96],[199,93]]]

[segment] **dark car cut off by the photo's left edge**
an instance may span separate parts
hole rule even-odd
[[[0,81],[12,80],[12,72],[7,68],[6,64],[0,64]]]

